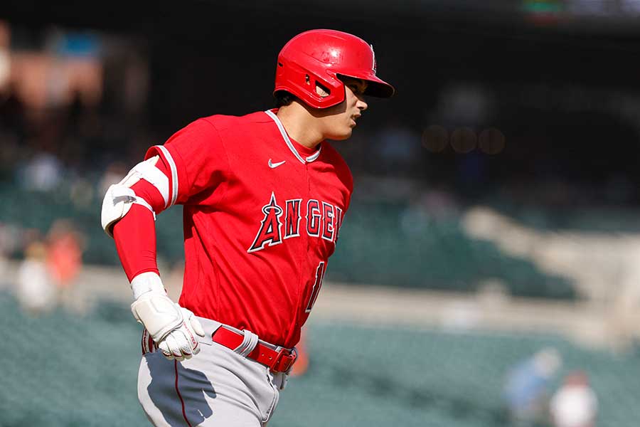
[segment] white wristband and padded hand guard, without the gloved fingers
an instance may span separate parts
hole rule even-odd
[[[160,276],[156,273],[141,273],[131,281],[136,300],[131,312],[155,342],[182,325],[184,318],[180,306],[166,295]]]

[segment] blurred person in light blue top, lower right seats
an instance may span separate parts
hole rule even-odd
[[[545,421],[550,383],[561,364],[558,350],[548,347],[508,372],[503,397],[512,426],[535,426]]]

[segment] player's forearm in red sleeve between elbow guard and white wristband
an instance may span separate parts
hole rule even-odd
[[[154,216],[143,206],[134,205],[113,228],[113,237],[124,268],[131,281],[140,273],[159,273],[156,261],[156,227]]]

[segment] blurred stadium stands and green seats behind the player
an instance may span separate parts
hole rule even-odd
[[[0,426],[146,425],[102,194],[191,120],[271,107],[309,28],[373,43],[398,95],[335,144],[356,192],[270,426],[554,426],[575,371],[594,426],[640,425],[640,1],[22,0],[0,8]],[[156,224],[177,295],[181,209]]]

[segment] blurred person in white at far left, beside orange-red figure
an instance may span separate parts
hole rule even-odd
[[[46,253],[43,241],[29,243],[18,268],[16,297],[23,310],[31,315],[40,315],[55,305],[55,288],[49,278]]]

